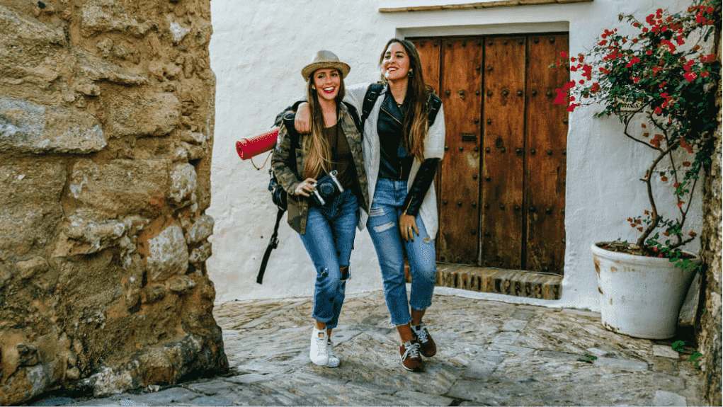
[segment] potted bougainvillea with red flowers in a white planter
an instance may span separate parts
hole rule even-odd
[[[596,117],[617,116],[630,145],[649,150],[636,155],[649,160],[641,174],[649,207],[628,218],[640,236],[634,242],[599,242],[592,251],[603,325],[663,339],[675,334],[700,264],[681,247],[696,238],[685,221],[698,176],[714,153],[721,66],[704,45],[721,24],[721,0],[696,2],[675,14],[658,9],[644,21],[621,14],[620,21],[629,24],[625,33],[605,30],[589,52],[562,53],[552,65],[578,75],[557,89],[555,103],[567,103],[568,111],[600,106]],[[672,203],[659,202],[664,197]]]

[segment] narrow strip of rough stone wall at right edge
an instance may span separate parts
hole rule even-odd
[[[716,54],[721,60],[721,27],[716,28]],[[716,152],[711,163],[711,168],[706,173],[705,203],[703,234],[701,235],[703,262],[706,265],[705,275],[701,288],[701,309],[698,312],[698,323],[696,323],[696,334],[698,348],[703,356],[699,361],[701,370],[705,374],[705,393],[710,406],[722,406],[722,381],[721,369],[723,368],[723,341],[721,307],[722,299],[722,269],[721,252],[723,251],[723,142],[721,127],[721,89],[719,83],[716,95],[718,106],[718,129],[716,130]]]

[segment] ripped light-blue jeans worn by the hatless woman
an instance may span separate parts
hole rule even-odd
[[[403,325],[411,320],[409,307],[422,311],[432,305],[437,275],[435,241],[427,234],[422,217],[416,216],[419,236],[415,234],[414,241],[404,241],[399,234],[399,216],[406,194],[407,181],[377,179],[367,220],[369,236],[377,249],[382,270],[384,298],[394,325]],[[408,301],[403,249],[406,249],[412,279]]]

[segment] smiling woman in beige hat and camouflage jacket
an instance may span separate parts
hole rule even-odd
[[[288,192],[288,224],[301,236],[317,272],[309,358],[327,367],[339,365],[331,331],[341,313],[346,280],[351,277],[355,227],[364,227],[359,208],[366,210],[369,200],[361,131],[342,103],[343,78],[349,69],[330,51],[317,52],[312,63],[301,69],[307,82],[311,132],[297,134],[282,124],[271,159],[281,187]],[[294,148],[296,153],[291,154]],[[312,197],[317,181],[333,174],[343,192],[317,202]]]

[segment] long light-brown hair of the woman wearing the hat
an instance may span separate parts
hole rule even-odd
[[[306,162],[304,164],[304,179],[317,179],[317,177],[323,172],[329,172],[327,164],[331,158],[331,147],[322,132],[325,127],[324,113],[322,112],[322,108],[319,103],[317,90],[313,87],[315,73],[316,71],[312,72],[312,74],[307,78],[307,100],[309,101],[309,114],[312,121],[312,132],[307,137],[304,137],[303,151],[304,161]],[[346,94],[344,78],[341,72],[338,72],[338,74],[341,84],[339,85],[339,92],[337,93],[336,98],[334,98],[336,103],[337,121],[339,119],[339,105]]]

